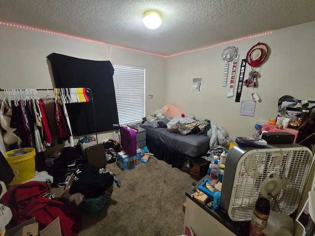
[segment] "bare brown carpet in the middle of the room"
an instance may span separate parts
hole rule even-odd
[[[99,212],[82,216],[79,236],[179,236],[184,234],[185,192],[200,177],[172,168],[155,157],[126,171],[107,164],[122,182],[114,186],[109,203]],[[56,197],[63,188],[53,188]]]

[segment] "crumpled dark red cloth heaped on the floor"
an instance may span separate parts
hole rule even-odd
[[[43,197],[47,190],[38,181],[18,184],[2,196],[0,203],[11,209],[17,225],[35,217],[42,230],[59,216],[62,234],[77,236],[82,228],[80,215],[62,202]]]

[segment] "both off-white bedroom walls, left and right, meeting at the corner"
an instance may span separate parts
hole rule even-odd
[[[106,44],[106,50],[104,45],[95,42],[0,25],[0,88],[53,88],[46,59],[52,52],[84,59],[111,59],[112,63],[146,67],[146,115],[171,103],[186,115],[220,123],[233,139],[251,136],[257,120],[267,121],[277,116],[281,96],[288,94],[301,100],[315,100],[314,29],[315,22],[311,22],[164,59],[110,44]],[[258,92],[261,102],[256,103],[254,117],[241,116],[241,103],[235,102],[235,96],[227,98],[228,87],[221,86],[224,69],[221,53],[227,46],[238,47],[240,64],[248,50],[259,41],[267,43],[271,53],[261,68],[259,87],[243,88],[241,101],[252,100],[251,93]],[[228,79],[231,67],[230,63]],[[247,65],[245,78],[249,70]],[[192,78],[195,77],[203,77],[201,93],[191,92]],[[45,92],[41,94],[46,96]],[[148,94],[153,94],[154,99],[148,99]],[[4,92],[0,92],[0,99],[3,96]],[[118,135],[105,132],[98,136],[100,141],[108,138],[117,140]],[[0,144],[3,147],[2,139]]]

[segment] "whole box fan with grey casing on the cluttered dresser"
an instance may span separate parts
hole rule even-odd
[[[313,161],[309,148],[236,145],[227,154],[221,189],[221,206],[233,221],[248,221],[256,200],[265,197],[270,209],[290,215],[298,207]]]

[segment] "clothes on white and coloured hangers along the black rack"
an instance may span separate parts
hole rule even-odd
[[[37,90],[47,90],[44,99],[39,98]],[[50,96],[48,90],[54,90],[55,95]],[[0,89],[5,92],[4,101],[1,104],[0,121],[1,126],[7,120],[8,127],[5,129],[12,133],[12,137],[21,142],[19,147],[36,148],[37,152],[45,151],[46,146],[53,146],[52,131],[46,113],[46,104],[54,102],[55,119],[58,130],[58,143],[68,140],[71,147],[74,147],[74,139],[71,131],[70,119],[66,104],[82,103],[92,101],[93,114],[94,104],[91,89],[87,88],[62,88],[62,89]],[[2,117],[4,106],[10,112],[6,112],[6,119]],[[96,126],[95,126],[96,130]],[[14,134],[13,134],[14,132]],[[95,132],[96,142],[97,133]],[[13,143],[4,143],[11,145]]]

